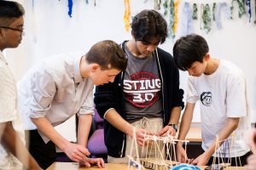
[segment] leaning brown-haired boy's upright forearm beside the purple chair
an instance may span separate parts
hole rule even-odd
[[[87,147],[90,127],[92,122],[92,115],[80,115],[78,127],[78,144]]]

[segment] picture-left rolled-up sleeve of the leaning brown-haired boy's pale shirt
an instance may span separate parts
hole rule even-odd
[[[30,117],[44,117],[56,93],[54,78],[47,71],[35,71],[32,74],[31,83]]]

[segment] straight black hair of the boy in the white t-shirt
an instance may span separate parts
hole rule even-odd
[[[195,61],[202,63],[208,52],[207,41],[197,34],[179,38],[173,47],[175,63],[182,71],[187,71]]]

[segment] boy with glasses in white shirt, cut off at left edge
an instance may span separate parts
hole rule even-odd
[[[15,79],[3,56],[5,48],[16,48],[21,42],[24,13],[20,3],[0,2],[0,169],[22,169],[22,164],[27,169],[41,169],[26,150]]]

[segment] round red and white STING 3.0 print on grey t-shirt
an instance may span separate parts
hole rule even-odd
[[[148,107],[153,105],[160,97],[160,78],[151,72],[140,71],[131,75],[131,80],[124,80],[125,99],[131,105]]]

